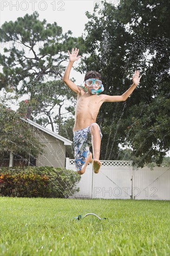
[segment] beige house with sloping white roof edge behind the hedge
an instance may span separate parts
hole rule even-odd
[[[15,166],[52,166],[65,168],[65,146],[72,145],[72,141],[60,136],[51,130],[39,125],[30,119],[22,119],[31,124],[36,129],[36,137],[39,141],[45,144],[44,155],[39,155],[37,158],[19,156],[15,154],[7,155],[5,152],[0,157],[0,167],[15,167]]]

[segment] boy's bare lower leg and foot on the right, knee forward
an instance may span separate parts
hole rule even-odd
[[[92,135],[93,170],[95,173],[98,173],[102,163],[99,161],[101,137],[100,137],[100,131],[97,123],[94,123],[91,125],[90,132]]]

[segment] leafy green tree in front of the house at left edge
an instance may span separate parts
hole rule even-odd
[[[36,134],[38,129],[26,122],[26,114],[22,115],[0,104],[0,153],[14,153],[17,155],[43,154],[44,144],[39,142]]]

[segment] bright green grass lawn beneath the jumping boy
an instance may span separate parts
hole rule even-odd
[[[169,221],[167,201],[0,197],[0,255],[169,256]]]

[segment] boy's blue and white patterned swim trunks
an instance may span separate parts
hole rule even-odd
[[[92,123],[94,124],[94,123]],[[88,127],[85,127],[84,129],[78,130],[73,132],[74,134],[74,156],[75,156],[75,166],[76,171],[82,170],[82,168],[85,165],[85,162],[90,155],[90,146],[92,146],[92,135],[90,132],[90,127],[92,124]],[[95,123],[97,124],[97,123]],[[98,124],[97,124],[98,125]],[[102,133],[100,131],[100,138],[102,139]]]

